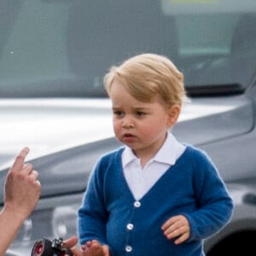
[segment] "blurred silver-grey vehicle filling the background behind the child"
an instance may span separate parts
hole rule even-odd
[[[24,146],[42,183],[6,255],[76,233],[90,171],[119,147],[102,77],[143,52],[166,55],[183,72],[191,102],[173,133],[211,155],[236,203],[230,224],[205,242],[207,256],[253,255],[255,27],[254,0],[1,1],[0,185]]]

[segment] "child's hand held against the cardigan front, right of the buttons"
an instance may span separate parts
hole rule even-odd
[[[161,229],[164,231],[167,239],[177,238],[175,244],[180,244],[189,238],[189,221],[183,215],[177,215],[169,218]]]

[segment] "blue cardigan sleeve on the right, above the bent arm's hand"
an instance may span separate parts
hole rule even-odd
[[[217,167],[207,154],[201,151],[198,153],[192,160],[197,210],[184,213],[190,224],[188,241],[201,240],[222,230],[230,221],[234,208]]]

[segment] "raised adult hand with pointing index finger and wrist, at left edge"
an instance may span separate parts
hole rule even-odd
[[[4,205],[0,212],[0,255],[4,255],[15,239],[23,221],[38,204],[41,184],[38,172],[25,163],[29,149],[23,148],[9,169],[4,184]]]

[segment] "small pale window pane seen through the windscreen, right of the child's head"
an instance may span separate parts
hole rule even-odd
[[[180,56],[230,55],[238,15],[179,15],[176,20]]]

